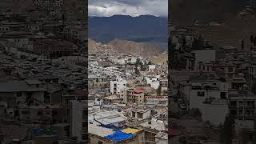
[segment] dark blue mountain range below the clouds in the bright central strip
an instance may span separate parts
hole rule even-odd
[[[134,42],[149,42],[161,50],[167,50],[168,18],[153,15],[131,17],[89,17],[88,36],[98,42],[110,42],[118,38]]]

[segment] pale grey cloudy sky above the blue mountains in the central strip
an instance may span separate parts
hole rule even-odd
[[[151,14],[167,17],[168,0],[89,0],[89,16]]]

